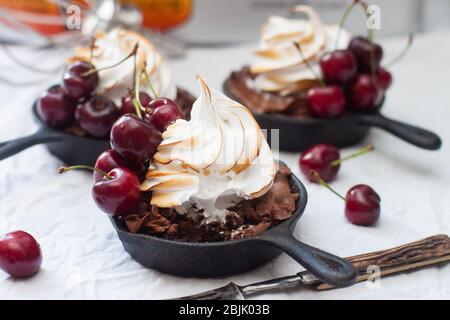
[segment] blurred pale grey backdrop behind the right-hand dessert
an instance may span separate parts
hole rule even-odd
[[[392,36],[450,27],[448,0],[371,0],[381,9],[381,30],[377,36]],[[192,19],[179,30],[193,42],[253,40],[269,15],[288,17],[295,4],[310,4],[324,21],[338,23],[349,0],[195,0]],[[364,33],[360,8],[349,15],[346,27]]]

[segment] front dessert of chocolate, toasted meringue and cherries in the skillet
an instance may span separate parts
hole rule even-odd
[[[201,92],[190,120],[167,117],[158,130],[151,124],[158,106],[124,115],[111,129],[112,149],[92,168],[97,205],[124,219],[132,233],[190,242],[239,239],[296,209],[291,172],[277,168],[251,112],[197,79]],[[74,168],[86,167],[60,172]]]

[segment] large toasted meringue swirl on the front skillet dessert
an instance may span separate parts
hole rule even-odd
[[[201,93],[191,120],[179,119],[163,133],[141,190],[153,192],[157,207],[223,222],[227,208],[270,189],[276,166],[251,112],[197,79]]]

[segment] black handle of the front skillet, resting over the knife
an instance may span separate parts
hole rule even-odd
[[[355,282],[357,271],[345,259],[300,242],[293,235],[265,235],[262,241],[286,252],[320,280],[336,287]]]

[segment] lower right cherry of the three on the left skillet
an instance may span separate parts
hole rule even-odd
[[[116,105],[104,96],[93,96],[79,104],[75,112],[80,127],[96,138],[106,137],[118,117]]]

